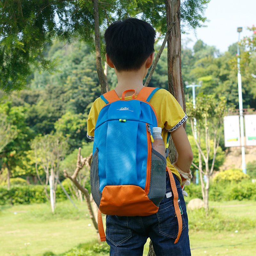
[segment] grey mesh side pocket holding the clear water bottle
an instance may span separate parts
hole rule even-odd
[[[151,176],[148,198],[159,206],[165,196],[166,182],[166,159],[161,156],[156,150],[152,149],[151,155]]]

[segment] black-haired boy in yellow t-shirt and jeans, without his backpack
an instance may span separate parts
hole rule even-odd
[[[143,88],[143,79],[154,59],[155,36],[155,30],[147,22],[134,18],[116,21],[107,28],[106,61],[115,70],[118,80],[115,92],[118,97],[121,98],[127,89],[135,90],[137,95]],[[129,93],[127,92],[125,100],[132,99],[132,93]],[[149,103],[156,111],[158,126],[162,128],[165,143],[168,132],[171,132],[179,155],[173,165],[180,172],[183,171],[185,176],[188,175],[193,154],[182,125],[187,116],[172,94],[164,89],[158,90]],[[87,123],[87,136],[90,139],[94,138],[97,117],[105,105],[101,98],[96,99],[92,105]],[[166,172],[166,195],[156,214],[135,217],[106,216],[106,241],[110,245],[110,255],[142,255],[148,237],[156,255],[191,255],[188,216],[180,187],[180,174],[168,157],[166,160],[175,179],[182,214],[182,232],[178,243],[174,244],[178,234],[178,222],[173,207],[170,178]]]

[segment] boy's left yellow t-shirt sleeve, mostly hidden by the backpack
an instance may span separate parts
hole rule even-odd
[[[87,119],[87,138],[91,140],[94,139],[95,125],[96,125],[100,110],[101,108],[103,108],[104,105],[106,105],[106,103],[100,98],[98,98],[93,102],[92,108],[89,112],[88,119]]]

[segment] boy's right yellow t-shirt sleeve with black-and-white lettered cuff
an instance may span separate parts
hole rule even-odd
[[[187,119],[188,116],[181,108],[179,102],[171,93],[166,94],[163,105],[163,120],[165,120],[164,128],[168,132],[173,132]]]

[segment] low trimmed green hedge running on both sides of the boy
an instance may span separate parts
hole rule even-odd
[[[64,188],[70,194],[68,185]],[[202,198],[201,186],[191,183],[185,186],[188,192],[188,199]],[[49,186],[47,187],[48,194],[50,194]],[[57,186],[56,199],[63,201],[67,196]],[[239,183],[222,184],[212,183],[209,189],[209,200],[211,201],[229,201],[229,200],[256,200],[256,183],[251,181],[242,181]],[[0,205],[4,204],[31,204],[31,203],[45,203],[47,197],[44,193],[44,186],[41,185],[14,185],[7,189],[7,186],[0,186]]]

